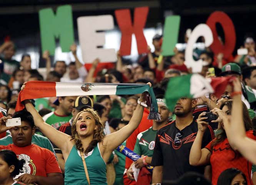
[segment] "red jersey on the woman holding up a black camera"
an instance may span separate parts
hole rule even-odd
[[[255,131],[246,132],[246,136],[254,140],[256,140],[255,134],[256,134]],[[211,151],[211,143],[213,141],[209,142],[209,144],[205,147],[209,151]],[[214,146],[211,152],[212,152],[211,158],[210,158],[211,169],[212,169],[211,183],[213,185],[217,184],[217,181],[221,172],[229,168],[237,168],[241,170],[244,173],[244,175],[246,175],[248,185],[253,185],[251,181],[251,167],[252,167],[251,162],[249,162],[240,154],[235,155],[235,152],[229,145],[227,138],[223,142]]]

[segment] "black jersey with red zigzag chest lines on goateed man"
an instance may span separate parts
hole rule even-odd
[[[159,129],[156,135],[152,166],[163,166],[163,181],[176,180],[188,171],[204,173],[204,166],[194,167],[189,163],[190,149],[196,138],[198,126],[193,121],[189,126],[181,130],[181,145],[174,144],[175,136],[180,130],[176,128],[175,121]],[[214,138],[213,129],[208,126],[204,133],[202,148]]]

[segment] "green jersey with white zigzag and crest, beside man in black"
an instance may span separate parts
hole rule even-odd
[[[157,130],[153,130],[151,126],[146,131],[138,134],[134,147],[134,152],[140,156],[144,155],[152,157],[155,147],[156,133]]]

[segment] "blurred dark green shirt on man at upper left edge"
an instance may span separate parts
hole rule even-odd
[[[13,72],[20,67],[20,62],[15,60],[6,60],[2,57],[0,57],[0,60],[3,62],[3,73],[1,75],[1,79],[8,84]]]

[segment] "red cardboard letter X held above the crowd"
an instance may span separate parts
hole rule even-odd
[[[133,24],[129,9],[116,10],[115,16],[122,33],[120,54],[122,56],[131,54],[131,36],[133,33],[136,37],[138,53],[143,54],[148,52],[148,44],[143,34],[143,28],[145,27],[148,16],[148,7],[135,8]]]

